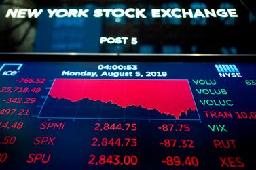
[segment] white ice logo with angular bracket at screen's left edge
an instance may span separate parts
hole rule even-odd
[[[20,72],[20,68],[22,66],[23,66],[23,64],[20,64],[20,63],[5,63],[0,68],[1,75],[2,76],[15,76]]]

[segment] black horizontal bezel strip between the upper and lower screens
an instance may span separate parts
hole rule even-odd
[[[0,53],[1,62],[237,62],[256,63],[256,54],[76,54]]]

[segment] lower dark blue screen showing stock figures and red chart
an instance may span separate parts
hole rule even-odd
[[[255,169],[256,65],[0,62],[1,169]]]

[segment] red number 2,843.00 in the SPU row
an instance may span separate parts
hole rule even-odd
[[[90,161],[88,161],[89,165],[137,165],[138,164],[138,157],[135,155],[129,156],[120,156],[120,155],[109,155],[106,156],[104,154],[100,156],[95,156],[91,154]]]

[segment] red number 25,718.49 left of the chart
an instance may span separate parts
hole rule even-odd
[[[41,87],[2,87],[0,93],[39,93]]]

